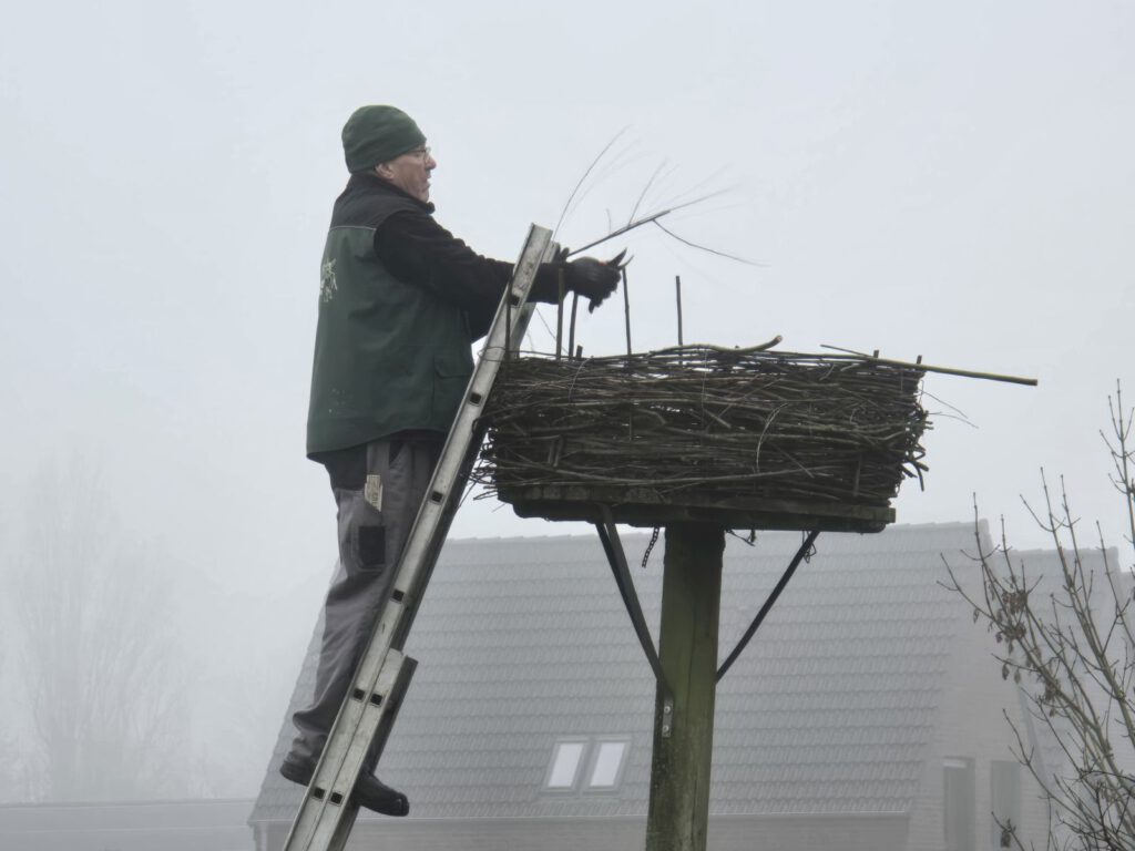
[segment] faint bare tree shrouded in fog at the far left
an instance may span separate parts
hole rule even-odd
[[[185,672],[162,554],[115,515],[86,458],[42,467],[27,497],[6,578],[12,652],[2,663],[27,733],[5,748],[22,775],[8,785],[33,800],[188,791]]]

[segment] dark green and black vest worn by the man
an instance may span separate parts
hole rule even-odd
[[[376,228],[405,209],[422,210],[356,178],[336,201],[320,269],[309,456],[409,429],[448,432],[461,404],[473,370],[464,313],[403,284],[375,254]]]

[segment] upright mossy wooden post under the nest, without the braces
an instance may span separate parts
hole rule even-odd
[[[666,526],[658,658],[673,694],[659,688],[647,851],[705,851],[717,673],[717,623],[725,530]]]

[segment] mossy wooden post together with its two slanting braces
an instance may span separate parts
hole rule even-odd
[[[725,662],[717,667],[725,529],[666,525],[658,650],[642,615],[609,508],[599,533],[619,592],[656,681],[647,851],[705,851],[709,818],[717,682],[745,650],[819,534],[808,532],[776,587]]]

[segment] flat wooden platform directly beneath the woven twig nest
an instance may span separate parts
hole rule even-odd
[[[760,499],[709,500],[648,488],[540,486],[502,488],[498,497],[521,517],[603,521],[600,506],[616,523],[653,528],[670,523],[713,523],[725,529],[882,532],[894,509],[827,502]]]

